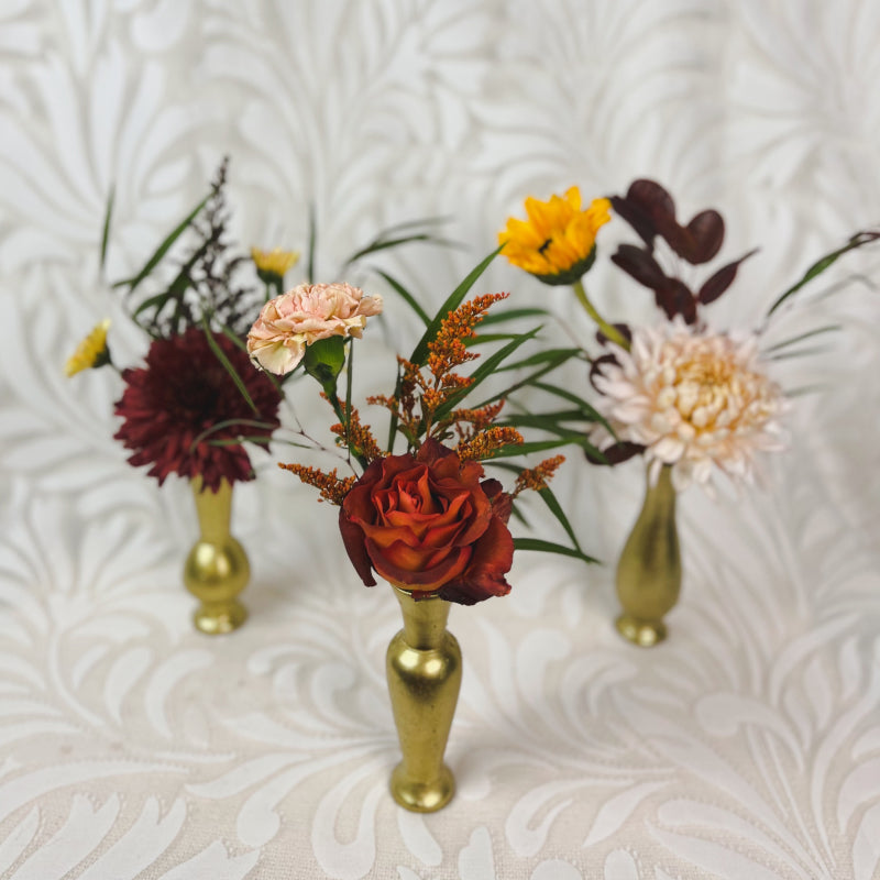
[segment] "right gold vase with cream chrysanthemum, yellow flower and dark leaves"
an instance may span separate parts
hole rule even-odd
[[[610,211],[641,240],[620,244],[612,262],[653,293],[661,318],[652,326],[609,322],[584,288],[583,277],[596,257],[596,233]],[[647,462],[645,504],[617,566],[624,613],[616,624],[635,644],[656,645],[666,637],[662,618],[681,587],[675,494],[692,482],[710,487],[718,472],[748,482],[758,453],[785,446],[782,415],[788,400],[769,376],[760,332],[719,332],[705,318],[706,308],[728,290],[739,266],[757,251],[726,263],[698,287],[685,283],[679,276],[681,262],[710,263],[724,242],[724,219],[707,209],[680,223],[672,197],[653,180],[636,180],[626,195],[596,199],[586,210],[572,187],[546,202],[527,199],[526,212],[528,220],[512,218],[499,233],[505,253],[546,284],[571,285],[596,324],[600,346],[597,353],[582,346],[575,355],[590,364],[590,384],[598,393],[594,402],[557,391],[576,408],[530,420],[554,436],[585,426],[596,448],[581,444],[594,464],[618,464],[636,455]],[[858,232],[817,261],[777,298],[762,330],[783,302],[838,257],[879,238],[877,231]],[[658,248],[661,241],[663,248]],[[671,270],[663,265],[670,255]]]

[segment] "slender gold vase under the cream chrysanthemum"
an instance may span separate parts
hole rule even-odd
[[[654,485],[648,481],[645,504],[617,563],[617,597],[624,608],[617,630],[642,648],[662,641],[663,616],[675,606],[680,592],[675,490],[667,464]]]

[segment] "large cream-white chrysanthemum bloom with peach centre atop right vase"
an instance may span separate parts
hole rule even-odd
[[[675,320],[632,333],[629,352],[594,377],[596,409],[617,438],[642,444],[651,482],[672,466],[676,490],[706,484],[713,465],[751,480],[755,453],[784,449],[780,416],[787,402],[766,375],[758,340],[700,332]],[[601,446],[613,442],[607,431]]]

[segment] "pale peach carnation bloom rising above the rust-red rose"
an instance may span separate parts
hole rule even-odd
[[[364,296],[350,284],[300,284],[263,306],[248,333],[248,353],[256,366],[283,376],[312,342],[360,339],[367,317],[381,312],[382,297]]]

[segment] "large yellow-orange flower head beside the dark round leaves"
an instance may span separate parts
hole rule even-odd
[[[596,233],[610,217],[608,199],[593,199],[581,210],[581,191],[570,187],[549,201],[526,199],[528,220],[510,217],[498,233],[504,255],[544,284],[574,284],[596,256]]]

